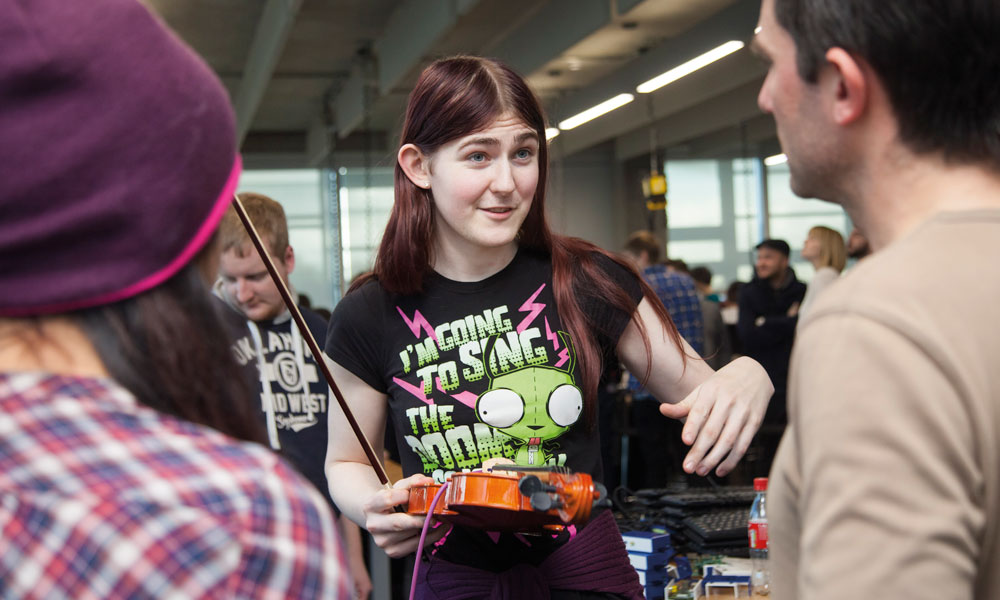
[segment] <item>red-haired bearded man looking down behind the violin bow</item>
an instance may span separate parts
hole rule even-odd
[[[263,194],[243,192],[239,197],[282,281],[292,290],[288,276],[295,268],[295,251],[288,243],[285,210]],[[327,412],[340,407],[232,207],[219,225],[219,246],[215,293],[245,319],[231,338],[231,349],[237,362],[252,373],[251,381],[257,382],[258,400],[254,405],[271,449],[295,465],[336,511],[323,468]],[[303,295],[298,296],[301,302]],[[298,308],[312,336],[324,340],[326,321],[305,305]],[[356,597],[367,598],[372,586],[361,531],[347,517],[341,516],[338,522],[347,545]]]

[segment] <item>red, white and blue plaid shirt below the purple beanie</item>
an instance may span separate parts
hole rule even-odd
[[[351,590],[329,507],[267,448],[110,380],[0,373],[0,597]]]

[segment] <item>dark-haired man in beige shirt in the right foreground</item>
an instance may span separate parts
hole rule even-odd
[[[763,0],[792,190],[874,254],[792,355],[775,600],[1000,598],[1000,7]]]

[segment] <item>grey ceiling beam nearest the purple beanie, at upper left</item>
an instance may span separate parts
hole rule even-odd
[[[257,21],[250,52],[243,67],[243,78],[233,102],[236,109],[238,143],[242,144],[267,91],[278,59],[292,32],[302,0],[268,0]]]

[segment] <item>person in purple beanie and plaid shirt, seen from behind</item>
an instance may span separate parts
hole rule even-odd
[[[0,597],[349,598],[209,293],[222,84],[133,0],[0,0],[0,30]]]

